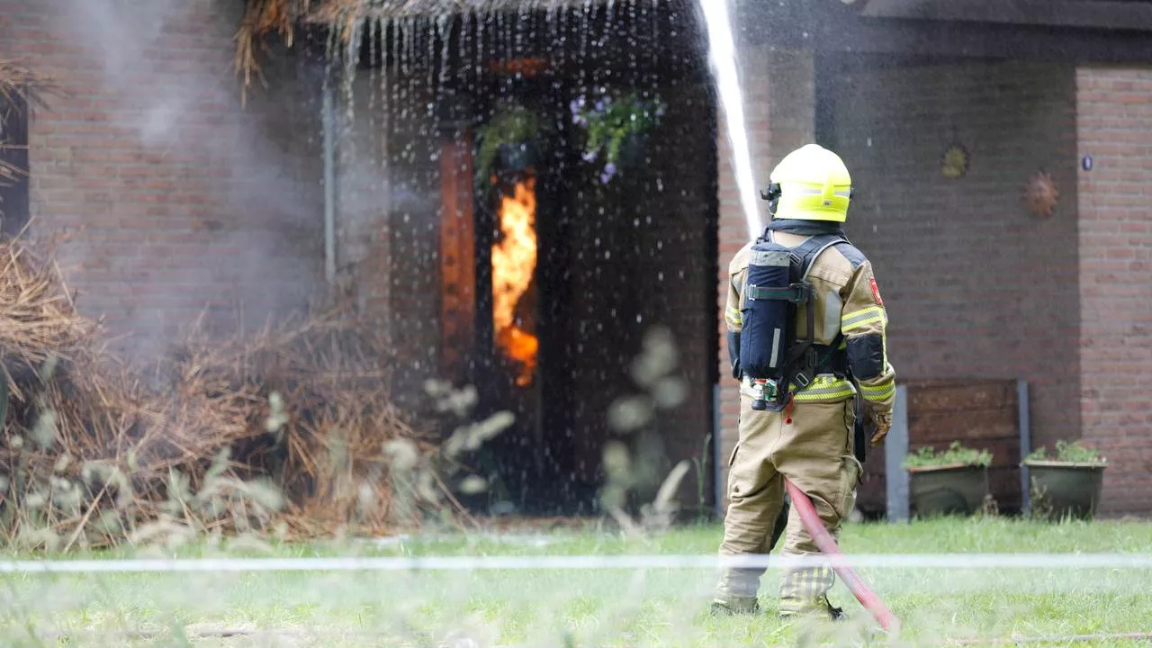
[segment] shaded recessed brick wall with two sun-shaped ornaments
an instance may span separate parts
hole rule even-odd
[[[859,189],[849,236],[888,306],[899,379],[1024,378],[1034,443],[1079,434],[1075,86],[1045,63],[835,73],[831,145]],[[957,140],[968,175],[940,171]],[[1023,203],[1052,173],[1052,218]]]

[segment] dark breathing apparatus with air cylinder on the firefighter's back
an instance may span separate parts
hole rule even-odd
[[[808,274],[820,253],[841,243],[849,243],[842,234],[819,234],[788,248],[765,231],[752,246],[741,309],[740,368],[759,394],[753,409],[783,409],[791,386],[806,387],[838,354],[842,334],[829,347],[813,344],[816,295]],[[808,309],[808,334],[801,339],[794,324],[802,304]]]

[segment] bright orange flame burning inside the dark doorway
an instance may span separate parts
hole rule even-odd
[[[536,180],[516,183],[514,195],[501,197],[500,242],[492,246],[492,322],[497,344],[522,364],[516,384],[524,386],[536,374],[539,340],[516,323],[516,304],[536,272]]]

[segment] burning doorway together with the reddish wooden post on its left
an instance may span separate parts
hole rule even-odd
[[[492,487],[472,504],[567,512],[594,491],[574,491],[571,435],[559,424],[571,392],[563,178],[571,152],[562,133],[486,152],[483,140],[508,104],[547,115],[563,103],[530,83],[520,84],[516,101],[493,95],[505,100],[492,116],[464,121],[441,148],[440,372],[477,389],[476,416],[516,417],[470,459]]]

